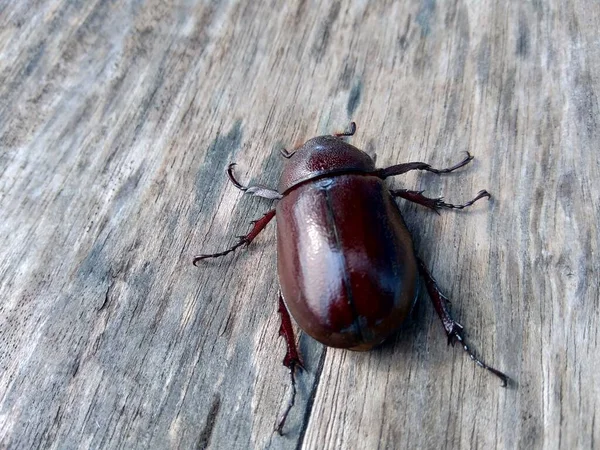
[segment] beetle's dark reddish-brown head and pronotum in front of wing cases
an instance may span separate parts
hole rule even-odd
[[[304,181],[336,173],[368,173],[375,162],[362,150],[337,136],[318,136],[306,141],[286,160],[279,179],[285,193]]]

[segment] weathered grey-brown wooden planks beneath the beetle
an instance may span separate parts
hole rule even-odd
[[[592,1],[0,4],[0,447],[598,448],[600,7]],[[277,150],[358,123],[477,353],[426,296],[370,353],[278,337]]]

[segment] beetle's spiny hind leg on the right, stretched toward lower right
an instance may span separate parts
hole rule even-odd
[[[423,263],[423,261],[417,258],[417,264],[419,266],[419,272],[421,273],[421,276],[425,279],[425,286],[427,287],[427,293],[429,294],[429,297],[433,302],[433,307],[435,308],[435,311],[442,320],[442,324],[444,325],[444,329],[446,330],[446,334],[448,335],[448,343],[454,344],[455,341],[458,341],[462,346],[463,350],[467,352],[467,354],[475,362],[475,364],[477,364],[483,369],[492,372],[494,375],[496,375],[502,380],[502,387],[506,387],[506,384],[508,383],[508,377],[499,370],[488,366],[475,356],[475,354],[471,351],[471,349],[465,342],[463,336],[464,330],[462,325],[458,322],[455,322],[454,319],[452,319],[452,316],[450,315],[450,302],[448,301],[448,298],[446,298],[446,296],[440,292],[440,289],[438,288],[435,279],[433,278],[431,273],[429,273],[429,270],[427,270],[425,263]]]

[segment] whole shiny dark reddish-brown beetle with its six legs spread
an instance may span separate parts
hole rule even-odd
[[[409,315],[417,299],[418,275],[425,282],[448,343],[459,342],[477,365],[502,380],[502,386],[508,381],[465,343],[463,327],[450,315],[448,299],[416,256],[394,200],[403,198],[438,212],[464,209],[490,194],[483,190],[471,201],[453,205],[442,198],[428,198],[423,191],[388,189],[384,182],[412,170],[450,173],[473,157],[467,152],[465,159],[446,169],[423,162],[378,169],[373,158],[344,140],[355,132],[352,122],[347,131],[312,138],[292,152],[281,150],[286,162],[276,190],[242,185],[233,173],[235,163],[230,164],[227,173],[235,187],[277,200],[277,204],[229,249],[193,259],[198,265],[249,245],[277,216],[280,335],[287,344],[283,364],[292,384],[291,399],[276,428],[280,434],[294,405],[295,370],[302,368],[290,314],[304,332],[326,346],[370,350],[394,334]]]

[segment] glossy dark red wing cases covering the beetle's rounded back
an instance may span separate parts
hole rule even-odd
[[[410,312],[412,241],[379,178],[348,174],[298,186],[277,205],[277,233],[286,305],[321,343],[368,350]]]

